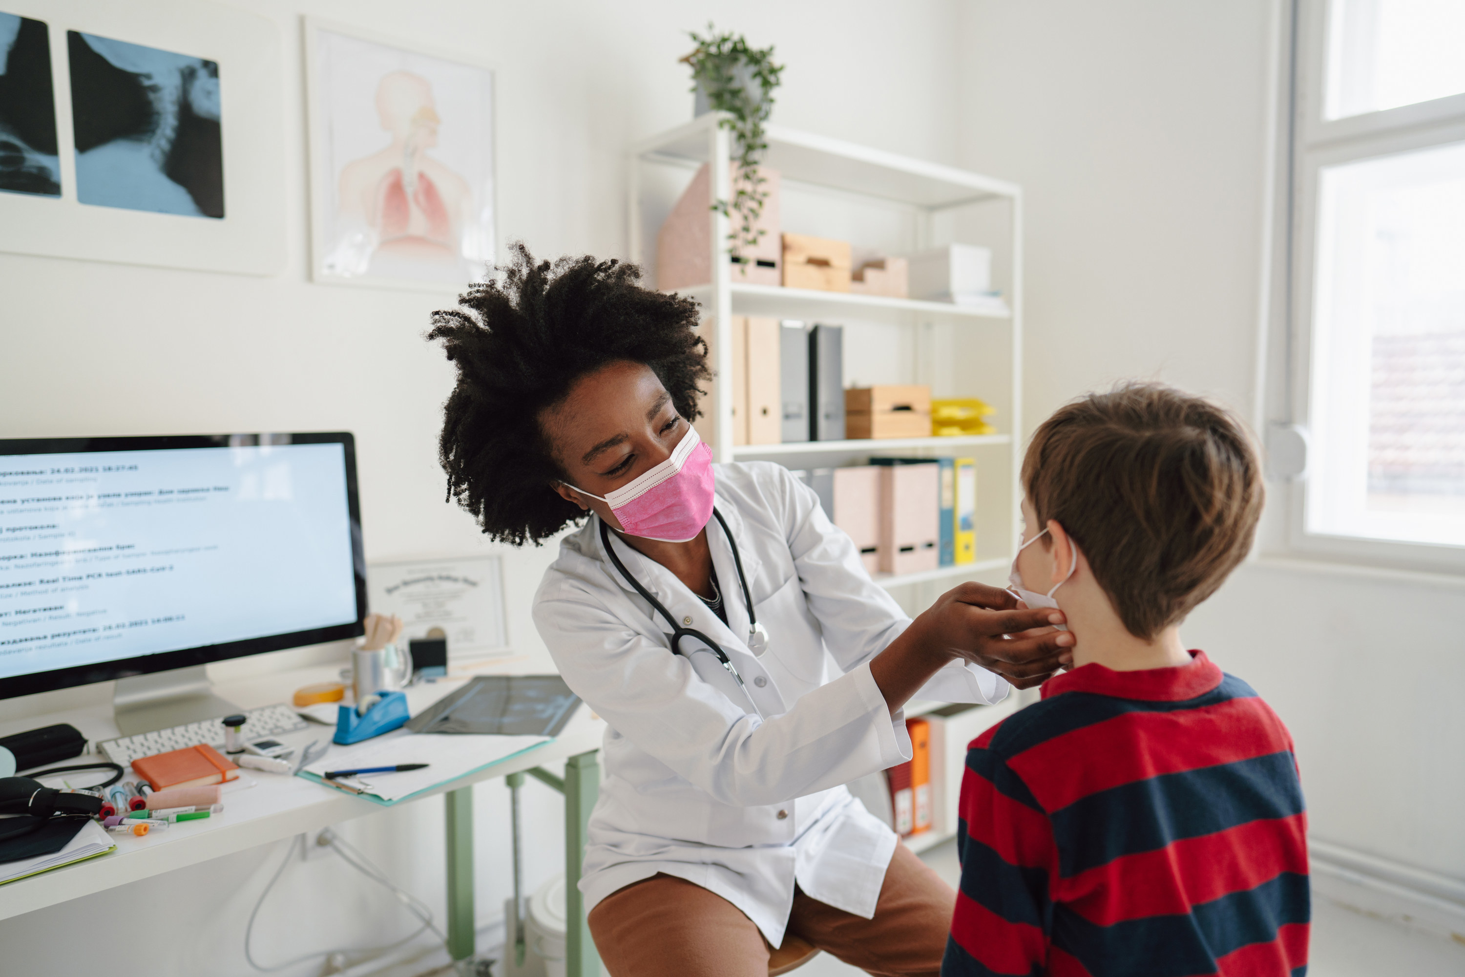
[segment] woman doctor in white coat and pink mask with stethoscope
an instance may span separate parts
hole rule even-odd
[[[535,624],[607,721],[580,888],[612,977],[766,977],[797,936],[936,974],[955,894],[844,784],[911,756],[911,697],[996,702],[1067,664],[1052,609],[965,583],[914,621],[812,489],[712,464],[693,302],[523,246],[434,318],[441,460],[494,539],[560,543]]]

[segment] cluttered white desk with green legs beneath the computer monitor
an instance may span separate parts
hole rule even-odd
[[[290,693],[314,681],[335,677],[335,665],[275,672],[268,677],[220,687],[220,694],[243,709],[289,702]],[[460,687],[457,681],[440,681],[426,690],[412,690],[413,712],[423,709],[431,700]],[[34,729],[56,722],[69,722],[89,740],[108,740],[117,735],[110,706],[94,706],[70,712],[56,712],[44,716],[0,724],[0,735]],[[448,952],[453,959],[467,959],[473,955],[473,784],[510,773],[530,772],[539,779],[557,787],[565,795],[565,892],[570,918],[568,974],[590,977],[599,973],[599,958],[585,923],[585,905],[576,880],[585,857],[585,826],[595,806],[599,787],[596,750],[605,724],[592,718],[589,707],[580,706],[565,729],[551,743],[527,753],[510,757],[489,768],[434,788],[422,797],[447,794],[447,885],[448,885]],[[330,740],[334,727],[314,725],[309,729],[278,737],[292,746],[303,746],[312,740]],[[76,757],[69,763],[84,763]],[[565,765],[565,776],[542,770],[546,763]],[[21,879],[0,886],[0,920],[21,915],[48,905],[66,902],[82,895],[136,882],[163,872],[196,864],[220,855],[233,854],[256,845],[292,838],[302,832],[315,832],[338,825],[352,817],[381,811],[382,807],[344,791],[325,787],[303,776],[283,776],[243,770],[256,787],[226,792],[224,813],[201,822],[189,822],[186,831],[167,831],[145,838],[117,838],[117,851],[101,858],[91,858],[73,866],[45,872],[29,879]],[[86,775],[76,775],[84,782]],[[127,776],[130,776],[130,769]],[[403,804],[412,804],[420,797]]]

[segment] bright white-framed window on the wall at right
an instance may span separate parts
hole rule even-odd
[[[1292,542],[1465,568],[1465,0],[1299,4]]]

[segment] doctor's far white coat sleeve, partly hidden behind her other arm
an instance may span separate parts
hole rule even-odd
[[[784,532],[804,599],[823,628],[825,647],[845,672],[867,665],[911,621],[889,590],[870,580],[854,540],[829,521],[815,491],[793,475],[781,482]],[[913,699],[990,705],[1006,697],[1009,688],[996,672],[954,661]]]

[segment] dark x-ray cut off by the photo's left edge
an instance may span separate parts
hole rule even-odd
[[[62,195],[45,23],[0,12],[0,190]]]

